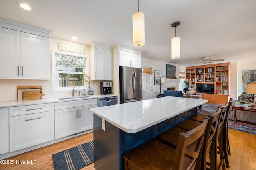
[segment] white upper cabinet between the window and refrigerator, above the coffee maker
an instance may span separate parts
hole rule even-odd
[[[90,49],[90,80],[112,80],[112,57],[109,47],[94,43]]]

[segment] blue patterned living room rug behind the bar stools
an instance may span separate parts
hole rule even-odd
[[[198,109],[197,111],[200,114],[208,115],[208,114],[215,113],[219,106],[221,106],[221,105],[218,105],[218,104],[203,104],[202,108]],[[228,128],[235,129],[235,130],[238,130],[238,131],[244,131],[244,132],[256,134],[256,128],[248,127],[248,126],[244,126],[244,125],[238,125],[238,124],[236,124],[235,127],[233,127],[233,122],[234,121],[232,121],[232,120],[228,120]]]

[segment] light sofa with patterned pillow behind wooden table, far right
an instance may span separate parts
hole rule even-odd
[[[247,94],[246,92],[242,92],[242,94],[240,96],[238,96],[238,100],[234,100],[233,104],[235,104],[236,102],[241,102],[241,101],[253,103],[254,102],[254,94]],[[237,117],[238,121],[241,120],[241,121],[256,123],[256,115],[253,112],[236,110],[236,117]],[[234,120],[234,110],[231,109],[231,114],[228,117],[228,119]]]

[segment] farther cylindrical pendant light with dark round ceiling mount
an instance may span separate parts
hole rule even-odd
[[[176,27],[179,25],[178,21],[171,24],[172,27],[175,27],[175,37],[172,38],[172,59],[180,58],[180,37],[176,37]]]

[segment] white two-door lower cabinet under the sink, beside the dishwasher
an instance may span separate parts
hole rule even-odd
[[[55,103],[55,139],[93,129],[94,107],[97,99]]]

